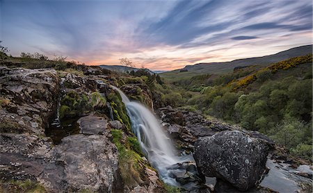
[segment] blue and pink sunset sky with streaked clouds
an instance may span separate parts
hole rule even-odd
[[[179,69],[312,44],[311,0],[0,0],[12,56],[43,53],[87,65]]]

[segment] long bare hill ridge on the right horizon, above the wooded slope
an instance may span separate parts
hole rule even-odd
[[[273,62],[287,60],[296,56],[304,56],[308,53],[312,53],[312,45],[295,47],[269,56],[239,59],[233,60],[231,62],[209,62],[195,65],[186,65],[186,67],[183,68],[183,71],[186,72],[180,72],[182,69],[176,69],[174,71],[165,72],[160,75],[164,78],[168,78],[170,81],[175,81],[182,78],[191,78],[197,74],[224,74],[227,72],[232,72],[235,67],[247,67],[251,65],[266,67]]]

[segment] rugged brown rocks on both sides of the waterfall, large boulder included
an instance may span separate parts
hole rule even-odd
[[[31,181],[41,192],[284,192],[286,181],[273,181],[287,176],[289,190],[310,192],[308,163],[262,133],[170,106],[155,112],[179,154],[195,162],[169,168],[182,186],[168,187],[111,85],[151,110],[158,106],[143,81],[97,67],[0,67],[0,190],[23,192],[16,182]]]

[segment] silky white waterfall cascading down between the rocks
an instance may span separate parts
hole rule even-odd
[[[177,156],[177,152],[170,139],[163,132],[161,124],[148,108],[141,103],[129,101],[126,95],[117,87],[113,87],[113,89],[120,93],[122,101],[125,103],[127,115],[131,120],[131,129],[150,164],[159,171],[162,181],[179,186],[175,178],[169,176],[168,167],[175,165],[177,162],[191,159]]]

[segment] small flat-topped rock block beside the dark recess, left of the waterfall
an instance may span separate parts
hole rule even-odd
[[[104,117],[88,115],[78,119],[80,132],[85,135],[103,135],[108,133],[108,121]]]

